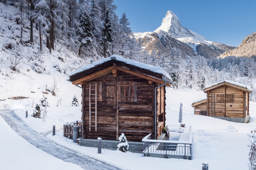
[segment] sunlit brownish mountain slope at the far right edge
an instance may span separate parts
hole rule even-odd
[[[256,32],[248,35],[238,47],[226,51],[219,58],[225,58],[227,56],[256,57]]]

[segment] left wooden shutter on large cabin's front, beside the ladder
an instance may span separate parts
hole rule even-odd
[[[116,82],[102,82],[102,101],[116,102]]]

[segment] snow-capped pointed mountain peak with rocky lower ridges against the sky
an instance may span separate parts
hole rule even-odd
[[[158,56],[168,55],[172,49],[180,49],[186,55],[201,55],[206,59],[216,58],[233,46],[208,41],[202,35],[183,27],[178,17],[167,11],[162,24],[153,32],[134,33],[137,41],[149,53],[155,49]],[[140,40],[139,40],[140,39]],[[174,41],[175,39],[175,41]],[[178,41],[177,41],[178,40]],[[186,47],[190,46],[190,48]]]

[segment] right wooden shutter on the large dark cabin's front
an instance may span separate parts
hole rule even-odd
[[[137,82],[120,82],[120,102],[137,102]]]

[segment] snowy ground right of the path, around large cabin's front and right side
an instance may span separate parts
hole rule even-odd
[[[57,132],[56,136],[50,134],[47,138],[59,145],[124,170],[166,169],[167,167],[175,170],[198,170],[201,169],[202,162],[208,162],[211,170],[247,169],[249,153],[247,133],[250,133],[250,129],[256,128],[256,103],[250,102],[251,119],[249,123],[244,124],[194,115],[191,104],[198,98],[206,98],[206,94],[186,88],[178,91],[171,88],[166,90],[166,123],[168,127],[170,129],[179,129],[180,127],[178,123],[180,102],[183,104],[185,128],[192,125],[192,160],[151,158],[144,157],[143,154],[106,149],[102,150],[102,154],[97,154],[96,148],[80,147],[74,144],[72,140],[66,139],[63,137],[62,131]]]

